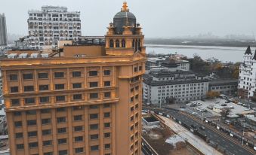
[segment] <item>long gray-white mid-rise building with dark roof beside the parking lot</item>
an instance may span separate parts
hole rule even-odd
[[[150,104],[188,102],[205,98],[208,80],[193,71],[156,71],[144,75],[143,99]]]

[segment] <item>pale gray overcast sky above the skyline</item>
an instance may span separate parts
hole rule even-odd
[[[82,35],[105,35],[106,26],[122,8],[122,0],[1,0],[8,33],[27,35],[29,9],[42,5],[81,11]],[[127,0],[146,37],[256,35],[256,0]]]

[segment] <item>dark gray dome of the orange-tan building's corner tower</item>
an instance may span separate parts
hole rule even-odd
[[[133,33],[135,33],[135,26],[136,26],[136,17],[129,11],[120,11],[114,17],[115,33],[118,35],[122,35],[124,31],[123,26],[132,26]]]

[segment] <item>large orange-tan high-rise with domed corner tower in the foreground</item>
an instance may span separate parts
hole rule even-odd
[[[124,2],[105,45],[2,59],[11,154],[140,154],[146,61],[140,30]]]

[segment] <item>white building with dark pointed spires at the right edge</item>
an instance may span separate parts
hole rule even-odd
[[[248,46],[239,67],[238,95],[243,99],[251,99],[256,89],[256,53],[251,53]]]

